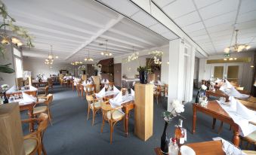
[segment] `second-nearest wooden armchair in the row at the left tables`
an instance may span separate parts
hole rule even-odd
[[[54,99],[54,96],[52,94],[48,94],[48,96],[44,102],[38,102],[38,103],[44,103],[45,105],[36,106],[36,105],[38,105],[38,103],[35,104],[34,108],[33,108],[33,115],[36,117],[36,115],[38,115],[38,114],[48,113],[49,120],[51,122],[52,115],[51,115],[51,111],[50,111],[50,105],[51,105],[51,102],[53,99]],[[51,122],[51,125],[52,125],[52,122]]]

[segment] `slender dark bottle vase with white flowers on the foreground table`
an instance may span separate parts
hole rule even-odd
[[[162,137],[161,137],[161,151],[164,154],[168,154],[168,146],[169,146],[169,138],[166,132],[168,123],[171,122],[171,120],[174,119],[174,117],[181,116],[180,113],[184,112],[184,105],[177,99],[174,99],[171,102],[171,111],[164,111],[162,112],[162,117],[165,120],[165,128],[164,131],[162,132]]]

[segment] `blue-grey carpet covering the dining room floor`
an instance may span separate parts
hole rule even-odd
[[[51,92],[50,92],[51,93]],[[123,121],[119,122],[113,132],[113,144],[109,144],[109,124],[106,123],[103,133],[100,133],[102,115],[97,114],[94,126],[91,126],[91,116],[87,118],[87,102],[82,97],[78,97],[76,91],[70,88],[55,86],[54,102],[51,105],[53,115],[53,126],[49,124],[45,132],[44,144],[49,155],[54,154],[155,154],[154,148],[159,147],[160,138],[164,128],[164,120],[161,117],[162,111],[167,107],[167,99],[162,98],[159,105],[154,103],[153,136],[142,141],[134,135],[134,111],[129,119],[129,135],[125,137]],[[184,128],[187,129],[187,143],[195,141],[211,141],[211,138],[221,136],[227,140],[232,139],[233,132],[229,126],[224,124],[221,135],[217,135],[216,129],[211,129],[212,118],[205,114],[197,115],[196,134],[191,134],[192,129],[192,104],[187,103],[185,112],[182,114]],[[22,117],[27,117],[26,113]],[[168,136],[174,135],[174,125],[177,119],[168,126]],[[23,125],[23,131],[28,131],[28,126]]]

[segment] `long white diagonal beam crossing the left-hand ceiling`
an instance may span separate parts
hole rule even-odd
[[[91,36],[91,38],[88,41],[85,41],[84,44],[82,44],[80,47],[78,47],[73,53],[71,53],[69,56],[66,57],[66,59],[69,59],[69,57],[73,56],[74,54],[78,53],[79,50],[82,50],[85,48],[88,44],[90,44],[92,41],[100,37],[100,35],[103,35],[104,32],[115,26],[119,21],[123,19],[122,15],[119,15],[117,19],[110,20],[109,23],[106,24],[106,26],[103,29],[100,29],[97,33]]]

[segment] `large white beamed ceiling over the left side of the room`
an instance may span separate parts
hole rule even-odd
[[[91,0],[3,2],[9,14],[17,20],[15,24],[26,27],[34,36],[35,48],[24,49],[24,56],[46,58],[52,44],[53,53],[59,56],[60,62],[83,60],[88,56],[88,50],[92,58],[99,60],[106,58],[100,55],[106,51],[106,39],[109,52],[120,56],[131,53],[133,47],[134,50],[150,49],[168,44],[169,38],[177,38],[165,27],[158,27],[147,14],[137,12],[137,8],[138,14],[131,10],[134,19],[147,18],[143,24],[161,31],[162,36]]]

